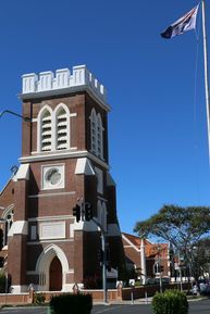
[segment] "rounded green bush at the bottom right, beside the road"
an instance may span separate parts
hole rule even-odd
[[[152,311],[153,314],[187,314],[187,297],[178,290],[158,292],[152,300]]]

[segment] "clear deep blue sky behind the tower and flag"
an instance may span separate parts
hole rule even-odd
[[[207,1],[208,2],[208,1]],[[86,64],[108,89],[121,229],[163,204],[209,205],[201,36],[160,33],[197,1],[3,0],[0,111],[21,113],[21,75]],[[207,3],[207,28],[210,7]],[[196,88],[195,88],[196,80]],[[21,121],[0,121],[0,189],[21,156]]]

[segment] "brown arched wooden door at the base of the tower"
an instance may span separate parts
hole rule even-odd
[[[62,265],[60,260],[54,256],[50,264],[50,269],[49,269],[49,277],[50,277],[50,282],[49,282],[49,290],[50,291],[61,291],[62,289]]]

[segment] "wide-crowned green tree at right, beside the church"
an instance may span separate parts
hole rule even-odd
[[[210,208],[164,205],[158,214],[137,222],[134,231],[139,237],[156,236],[169,241],[187,264],[194,247],[210,231]]]

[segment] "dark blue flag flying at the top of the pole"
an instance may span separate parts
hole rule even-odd
[[[163,33],[161,33],[161,36],[163,38],[170,39],[187,30],[195,29],[198,8],[199,4],[187,12],[184,16],[178,18],[176,22],[174,22],[172,25],[170,25]]]

